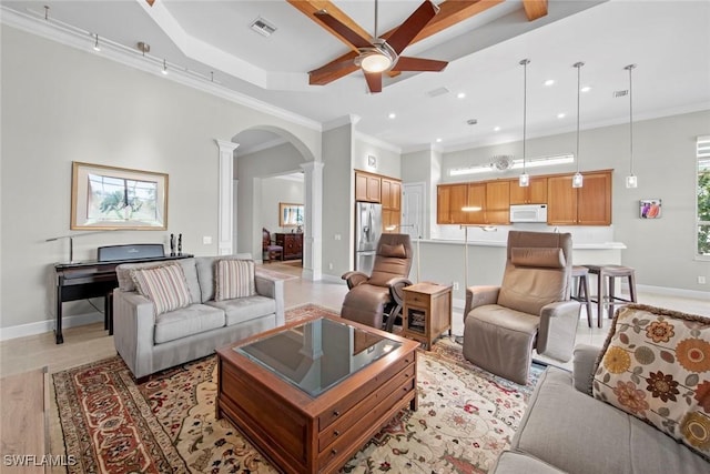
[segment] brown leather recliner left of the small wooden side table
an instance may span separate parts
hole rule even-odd
[[[373,272],[347,272],[343,280],[351,290],[343,301],[341,316],[392,332],[402,313],[405,286],[412,269],[412,242],[408,234],[383,234],[377,242]],[[385,315],[387,320],[385,321]]]

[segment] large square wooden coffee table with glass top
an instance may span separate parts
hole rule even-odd
[[[417,410],[416,341],[335,316],[217,350],[216,416],[286,473],[336,472]]]

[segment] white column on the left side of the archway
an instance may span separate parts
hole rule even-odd
[[[234,229],[234,150],[240,145],[226,140],[214,140],[220,148],[220,173],[217,179],[217,255],[234,253],[232,231]]]

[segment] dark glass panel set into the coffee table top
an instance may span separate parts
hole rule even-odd
[[[311,396],[318,396],[402,344],[347,323],[317,319],[234,347]]]

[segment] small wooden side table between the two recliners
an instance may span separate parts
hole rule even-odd
[[[422,282],[404,288],[402,335],[426,344],[448,330],[452,335],[452,285]]]

